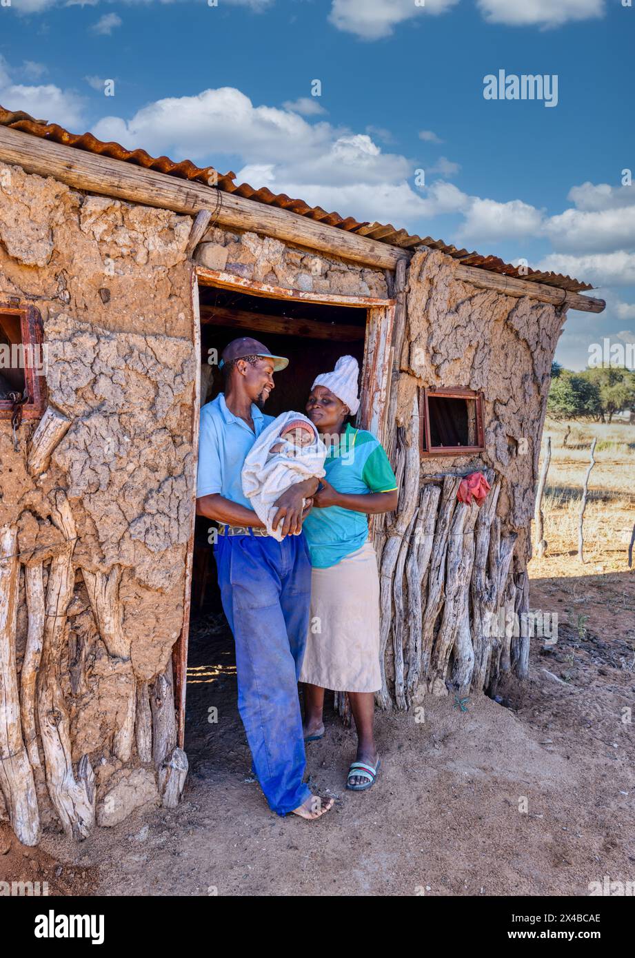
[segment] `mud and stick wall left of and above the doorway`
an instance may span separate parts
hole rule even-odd
[[[28,844],[41,826],[83,837],[182,787],[170,651],[195,488],[191,228],[192,217],[0,163],[0,303],[39,311],[45,408],[68,423],[34,470],[40,420],[25,419],[14,446],[0,416],[0,563],[8,580],[15,571],[23,707],[14,745],[28,755],[10,794],[10,750],[0,754],[0,816]],[[381,271],[253,233],[215,227],[196,260],[289,288],[386,295]],[[16,805],[32,788],[35,802]]]

